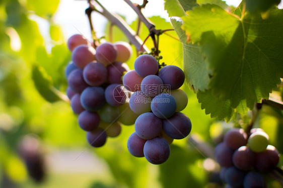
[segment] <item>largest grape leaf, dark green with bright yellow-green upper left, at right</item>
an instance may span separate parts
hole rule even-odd
[[[183,29],[213,69],[207,96],[198,95],[202,107],[210,109],[206,112],[222,119],[227,109],[215,106],[217,100],[229,101],[232,109],[246,113],[255,102],[268,99],[283,75],[283,12],[272,9],[267,20],[248,13],[239,19],[207,4],[187,14],[182,17]]]

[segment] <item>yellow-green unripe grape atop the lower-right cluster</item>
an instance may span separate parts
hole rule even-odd
[[[259,153],[266,149],[268,140],[269,137],[265,132],[257,131],[249,137],[248,146],[253,152]]]

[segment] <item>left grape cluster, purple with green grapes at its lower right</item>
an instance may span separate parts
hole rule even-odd
[[[101,147],[107,137],[120,134],[121,123],[132,125],[137,117],[126,103],[130,92],[121,85],[123,74],[129,71],[124,62],[132,54],[131,47],[126,42],[105,42],[95,49],[79,34],[71,36],[67,46],[73,60],[65,69],[70,105],[89,144]]]

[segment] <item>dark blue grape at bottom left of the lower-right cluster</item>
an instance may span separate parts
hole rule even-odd
[[[241,186],[246,173],[237,169],[235,166],[231,166],[225,170],[224,179],[225,182],[231,186]]]

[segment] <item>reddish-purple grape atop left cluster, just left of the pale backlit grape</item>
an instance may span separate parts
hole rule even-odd
[[[116,58],[117,49],[113,44],[106,42],[96,48],[96,59],[105,66],[114,63]]]

